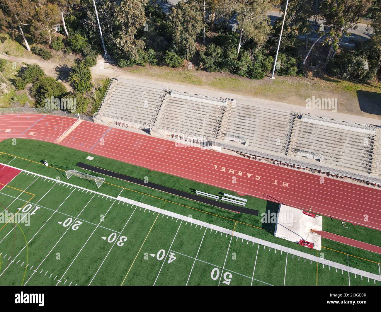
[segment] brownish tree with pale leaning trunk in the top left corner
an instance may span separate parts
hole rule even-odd
[[[0,26],[13,34],[22,36],[26,49],[30,51],[22,26],[28,25],[34,14],[30,0],[0,0]]]

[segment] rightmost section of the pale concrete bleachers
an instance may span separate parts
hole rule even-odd
[[[339,120],[318,124],[307,116],[299,120],[291,146],[295,156],[300,150],[310,151],[322,154],[322,164],[364,172],[370,171],[374,134],[368,125],[348,126]]]

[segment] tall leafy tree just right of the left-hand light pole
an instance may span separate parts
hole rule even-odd
[[[138,29],[146,24],[144,8],[148,0],[122,0],[115,11],[117,30],[113,35],[118,59],[127,59],[130,64],[139,61],[139,53],[144,49],[143,40],[135,36]]]

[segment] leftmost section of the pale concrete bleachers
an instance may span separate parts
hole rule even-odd
[[[138,125],[152,124],[165,95],[159,85],[114,79],[99,110],[112,120],[127,120]]]

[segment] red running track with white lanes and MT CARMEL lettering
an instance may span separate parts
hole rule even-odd
[[[0,115],[0,141],[26,138],[55,142],[76,121],[56,115]],[[327,177],[321,184],[322,176],[306,171],[213,150],[179,147],[173,141],[85,121],[59,144],[241,195],[304,210],[312,206],[314,213],[381,230],[379,189]]]

